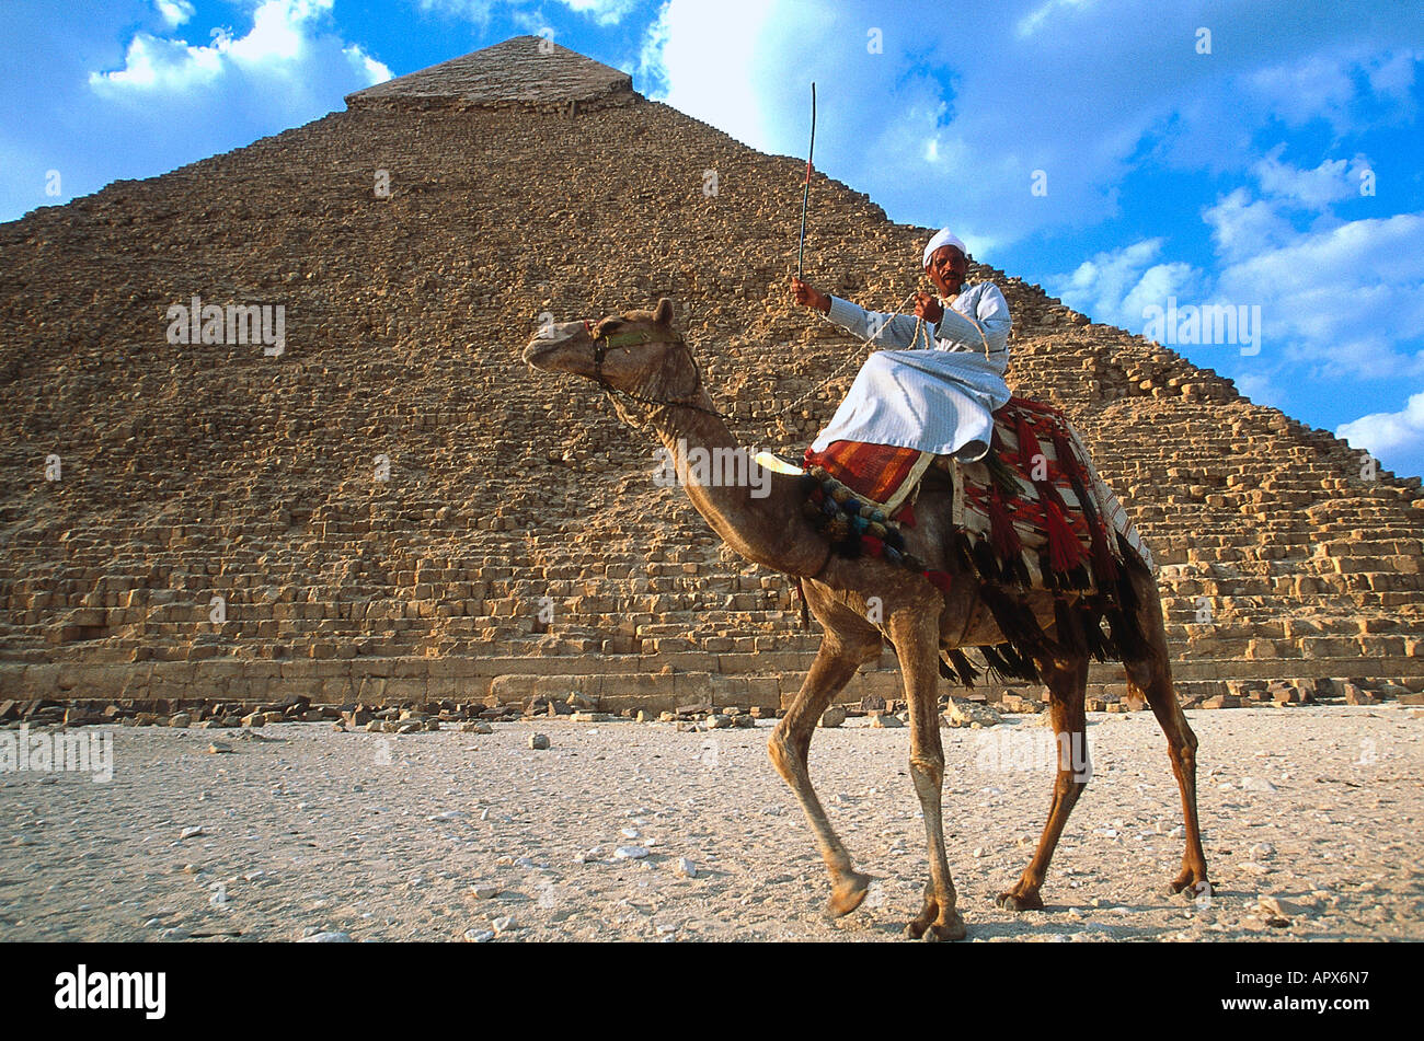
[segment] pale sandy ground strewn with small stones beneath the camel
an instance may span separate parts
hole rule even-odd
[[[1042,826],[1049,732],[1040,717],[943,731],[971,941],[1424,939],[1424,720],[1396,707],[1189,717],[1210,899],[1166,896],[1180,809],[1152,715],[1094,714],[1095,772],[1048,910],[1021,914],[994,895]],[[857,722],[812,745],[834,826],[880,877],[844,919],[824,916],[824,869],[766,758],[770,721],[400,737],[283,724],[117,728],[108,784],[0,774],[0,940],[899,940],[927,877],[910,734]],[[550,749],[528,747],[535,730]],[[214,740],[232,752],[209,754]],[[618,859],[619,846],[648,855]],[[1270,895],[1286,902],[1274,924],[1257,904]]]

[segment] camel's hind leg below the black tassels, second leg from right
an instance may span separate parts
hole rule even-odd
[[[1038,838],[1038,849],[1014,887],[1000,893],[997,903],[1008,910],[1042,910],[1038,896],[1054,858],[1058,838],[1062,835],[1068,815],[1088,786],[1092,765],[1088,761],[1088,717],[1084,712],[1084,697],[1088,693],[1088,658],[1067,658],[1062,661],[1040,660],[1038,671],[1048,684],[1048,708],[1054,722],[1054,737],[1058,741],[1058,772],[1054,778],[1054,801],[1048,808],[1044,833]]]

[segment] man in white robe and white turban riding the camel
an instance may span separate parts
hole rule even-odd
[[[1010,398],[1008,301],[993,282],[965,286],[965,247],[948,228],[930,239],[923,263],[944,300],[916,293],[914,317],[867,311],[792,277],[796,303],[889,348],[866,358],[813,452],[834,441],[914,448],[961,462],[988,452],[991,412]]]

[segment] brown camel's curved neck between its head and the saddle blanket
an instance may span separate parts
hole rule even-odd
[[[706,391],[696,402],[712,408]],[[692,408],[658,410],[652,427],[662,441],[664,472],[676,468],[696,511],[722,539],[745,556],[787,575],[810,577],[830,552],[802,516],[797,479],[752,462],[758,448],[742,448],[716,415]],[[669,474],[671,476],[671,474]]]

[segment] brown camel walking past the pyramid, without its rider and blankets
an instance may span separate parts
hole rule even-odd
[[[768,471],[760,476],[770,481],[759,479],[756,489],[746,484],[699,481],[696,468],[688,465],[693,449],[702,448],[711,455],[716,449],[739,451],[739,447],[702,385],[692,353],[674,331],[672,319],[672,303],[662,299],[654,310],[629,310],[598,321],[550,323],[530,341],[524,361],[538,370],[592,380],[609,391],[624,422],[652,428],[675,461],[692,505],[726,545],[748,560],[800,582],[805,603],[820,623],[823,637],[800,691],[772,731],[768,754],[815,833],[830,873],[829,912],[833,916],[859,907],[871,877],[856,870],[812,786],[807,772],[810,741],[832,700],[863,663],[880,657],[881,641],[890,641],[910,707],[910,776],[924,811],[930,860],[923,907],[904,931],[911,939],[963,939],[965,927],[946,858],[940,805],[944,751],[938,666],[944,651],[997,644],[1004,637],[978,592],[978,575],[965,572],[946,550],[951,535],[946,491],[921,488],[916,503],[918,523],[906,532],[907,550],[953,576],[950,590],[941,592],[926,577],[880,557],[833,555],[827,539],[802,513],[805,491],[796,475]],[[1128,688],[1146,700],[1162,727],[1182,796],[1186,845],[1182,870],[1172,880],[1171,892],[1190,887],[1202,893],[1208,879],[1196,812],[1196,737],[1172,687],[1156,580],[1135,555],[1125,563],[1143,636],[1136,656],[1126,656],[1122,663]],[[1028,596],[1034,616],[1044,631],[1051,633],[1055,623],[1049,594]],[[871,597],[879,597],[877,612],[870,610]],[[871,617],[877,623],[871,623]],[[1061,752],[1038,848],[1020,879],[998,895],[997,903],[1014,912],[1042,910],[1040,889],[1048,863],[1091,772],[1084,769],[1081,757],[1075,757],[1077,764],[1069,762],[1065,751],[1071,745],[1085,755],[1087,749],[1087,654],[1044,654],[1035,658],[1035,666],[1048,687]]]

